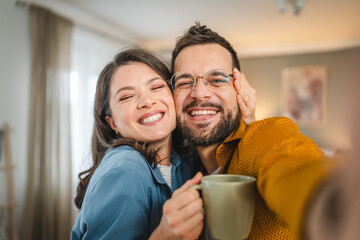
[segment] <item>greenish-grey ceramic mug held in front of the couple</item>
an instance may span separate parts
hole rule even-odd
[[[256,179],[249,176],[218,174],[202,178],[200,185],[205,218],[216,239],[246,239],[254,217]]]

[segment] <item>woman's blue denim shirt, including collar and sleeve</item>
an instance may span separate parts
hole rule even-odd
[[[129,146],[109,149],[91,177],[71,239],[148,239],[162,206],[199,170],[199,159],[171,155],[172,189],[160,171]]]

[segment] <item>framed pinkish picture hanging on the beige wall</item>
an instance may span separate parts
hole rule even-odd
[[[327,68],[284,68],[281,78],[282,114],[299,126],[323,125],[327,115]]]

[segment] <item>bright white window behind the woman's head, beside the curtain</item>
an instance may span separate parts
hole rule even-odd
[[[120,41],[74,26],[70,76],[74,194],[78,184],[77,175],[88,169],[92,162],[90,144],[97,77],[103,67],[124,47],[126,45]]]

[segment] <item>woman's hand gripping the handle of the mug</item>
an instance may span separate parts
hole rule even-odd
[[[203,203],[198,191],[188,188],[199,184],[201,178],[202,174],[197,173],[164,203],[160,224],[149,239],[192,240],[199,237],[203,228]]]

